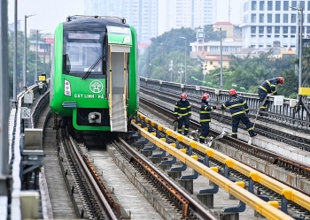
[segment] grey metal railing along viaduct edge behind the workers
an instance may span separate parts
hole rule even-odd
[[[163,80],[152,80],[148,78],[140,77],[140,87],[145,88],[154,88],[156,93],[168,92],[174,95],[181,95],[183,92],[186,92],[190,102],[200,102],[201,95],[208,93],[211,97],[211,102],[225,102],[229,98],[229,90],[220,90],[213,87],[202,87],[202,86],[193,86],[185,85],[173,82],[167,82]],[[260,107],[260,97],[257,94],[249,94],[244,92],[237,91],[238,95],[244,97],[244,100],[249,105],[250,111],[253,114],[256,113],[256,110]],[[169,97],[167,97],[169,99]],[[274,104],[275,96],[267,96],[267,110],[271,113],[277,114],[277,120],[286,123],[287,125],[296,126],[300,129],[310,130],[310,118],[306,114],[306,110],[299,110],[297,113],[294,113],[294,107],[298,102],[297,99],[283,99],[283,105],[278,106]],[[174,100],[175,102],[175,100]],[[292,119],[302,120],[302,123],[294,124]]]

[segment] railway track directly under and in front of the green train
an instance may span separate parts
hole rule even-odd
[[[98,142],[98,139],[100,143]],[[66,144],[66,146],[72,145],[72,150],[74,150],[74,157],[78,157],[79,160],[83,160],[83,162],[88,167],[88,170],[91,172],[91,176],[95,179],[95,182],[89,181],[88,186],[91,188],[95,188],[98,186],[100,188],[100,191],[103,192],[103,195],[105,196],[105,199],[107,200],[109,206],[117,214],[116,216],[118,216],[119,219],[123,219],[124,212],[121,213],[120,211],[121,204],[117,203],[116,200],[113,199],[113,196],[109,192],[110,190],[107,186],[105,186],[104,181],[99,177],[99,174],[97,173],[95,168],[96,165],[91,163],[91,161],[93,161],[94,159],[89,156],[89,153],[87,153],[88,150],[86,150],[89,148],[100,148],[100,146],[102,147],[103,141],[100,138],[98,139],[95,137],[91,138],[91,135],[89,136],[87,133],[75,132],[74,138],[70,136],[70,144]],[[165,201],[164,203],[166,203],[166,206],[168,206],[169,209],[174,209],[173,216],[179,216],[179,218],[185,219],[216,219],[210,214],[208,210],[199,205],[197,201],[194,201],[189,194],[183,192],[180,186],[175,185],[172,180],[167,178],[167,176],[163,175],[161,171],[155,168],[150,161],[143,158],[141,154],[138,154],[136,150],[130,147],[125,140],[119,137],[118,141],[110,140],[108,142],[109,143],[106,145],[105,149],[114,148],[120,151],[124,158],[128,160],[128,163],[132,164],[133,167],[136,169],[136,173],[139,173],[141,177],[147,179],[148,182],[151,184],[151,193],[160,194],[162,197],[161,202]],[[82,148],[80,146],[82,146]],[[102,150],[102,152],[104,151],[105,150]],[[87,172],[87,170],[83,169],[83,172]],[[94,191],[94,189],[92,189],[91,191]],[[84,192],[89,194],[89,192]],[[95,193],[94,197],[97,197],[97,192]],[[90,198],[89,200],[92,200],[92,198]],[[97,215],[99,215],[100,212],[98,210],[101,209],[97,208],[93,210],[92,213],[96,212]],[[96,219],[101,218],[98,218],[97,216]]]

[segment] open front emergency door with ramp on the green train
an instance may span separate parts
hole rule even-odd
[[[109,45],[107,74],[109,113],[112,132],[127,132],[128,57],[130,47]]]

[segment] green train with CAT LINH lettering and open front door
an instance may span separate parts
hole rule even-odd
[[[136,29],[125,19],[69,16],[56,27],[50,72],[55,126],[127,132],[139,108]]]

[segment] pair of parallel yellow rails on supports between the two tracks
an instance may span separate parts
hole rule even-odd
[[[243,163],[239,163],[236,160],[230,158],[229,156],[225,156],[221,154],[220,152],[214,150],[213,148],[208,148],[205,145],[200,144],[195,140],[191,140],[190,138],[187,138],[180,133],[176,133],[165,126],[158,125],[156,122],[152,121],[150,118],[146,118],[145,116],[141,114],[138,114],[137,118],[140,118],[141,120],[143,120],[143,122],[146,125],[150,125],[152,128],[155,128],[162,133],[166,133],[169,137],[172,137],[175,140],[182,142],[184,145],[187,145],[190,148],[195,148],[199,152],[203,153],[205,155],[205,165],[197,161],[194,162],[193,159],[190,158],[190,156],[183,154],[180,150],[173,148],[171,145],[167,144],[165,141],[160,140],[159,138],[155,137],[153,133],[149,133],[145,131],[143,128],[140,127],[141,125],[136,125],[135,123],[132,123],[137,128],[138,133],[141,133],[144,138],[146,138],[147,140],[150,140],[156,146],[167,151],[172,156],[175,156],[180,161],[182,161],[182,163],[188,164],[192,169],[194,169],[195,171],[198,171],[200,174],[204,175],[206,178],[209,178],[214,183],[216,183],[216,185],[221,186],[221,188],[225,189],[227,192],[229,193],[234,192],[231,194],[236,196],[236,198],[238,198],[240,201],[244,201],[244,203],[251,206],[253,209],[258,211],[261,215],[266,216],[267,218],[270,218],[270,219],[279,219],[279,216],[274,215],[275,213],[269,212],[270,210],[266,212],[266,210],[263,208],[265,207],[265,203],[263,203],[264,205],[261,206],[261,203],[260,203],[261,200],[259,199],[259,201],[257,201],[258,197],[253,194],[254,182],[260,183],[262,186],[266,186],[270,190],[282,196],[282,202],[281,202],[281,210],[283,211],[282,213],[287,213],[288,201],[292,201],[298,204],[299,206],[303,207],[304,209],[310,210],[310,203],[308,202],[310,201],[310,197],[292,189],[290,186],[286,186],[276,181],[273,178],[269,178],[267,177],[267,175],[260,173],[259,171],[255,171],[251,167],[248,167],[247,165],[244,165]],[[211,175],[210,168],[208,168],[209,166],[208,162],[210,158],[213,158],[225,165],[224,177],[221,176],[220,174],[214,175],[214,173],[212,173]],[[249,191],[246,191],[241,187],[237,188],[236,185],[231,186],[231,184],[233,183],[228,179],[229,169],[238,171],[244,176],[249,178]],[[246,191],[246,193],[244,193],[244,191]],[[254,196],[256,199],[253,199],[252,196]],[[289,218],[281,218],[281,219],[289,219]]]

